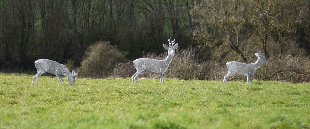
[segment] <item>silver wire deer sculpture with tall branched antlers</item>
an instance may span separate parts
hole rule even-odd
[[[175,55],[175,49],[178,48],[178,43],[175,44],[175,39],[171,41],[168,39],[169,47],[166,44],[162,44],[162,46],[168,50],[168,56],[164,60],[155,60],[155,59],[149,59],[149,58],[140,58],[133,61],[135,68],[137,72],[132,75],[131,83],[134,83],[134,80],[137,82],[137,77],[141,72],[144,70],[159,73],[159,81],[160,83],[164,83],[164,76],[163,73],[165,73],[168,69],[169,64],[171,63],[173,56]]]

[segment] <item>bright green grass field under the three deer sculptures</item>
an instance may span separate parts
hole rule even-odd
[[[0,128],[310,128],[310,85],[0,73]]]

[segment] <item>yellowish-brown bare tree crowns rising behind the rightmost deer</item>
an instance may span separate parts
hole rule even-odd
[[[192,10],[193,39],[216,62],[231,60],[232,52],[245,63],[257,51],[281,58],[310,42],[309,7],[304,0],[202,0]]]

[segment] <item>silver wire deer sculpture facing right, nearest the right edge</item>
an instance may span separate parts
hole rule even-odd
[[[263,63],[268,63],[268,60],[266,59],[265,56],[263,56],[260,51],[255,52],[255,56],[258,57],[255,63],[251,64],[245,64],[245,63],[240,63],[240,62],[227,62],[226,67],[228,70],[228,73],[225,75],[223,84],[226,83],[226,79],[234,74],[240,74],[243,76],[247,76],[247,82],[246,84],[249,83],[252,84],[252,76],[255,74],[256,69],[259,68],[259,66]]]

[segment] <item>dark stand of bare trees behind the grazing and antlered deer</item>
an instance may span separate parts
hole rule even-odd
[[[1,0],[0,64],[33,67],[48,58],[79,65],[86,48],[101,40],[129,59],[160,53],[169,35],[190,41],[192,6],[191,0]]]

